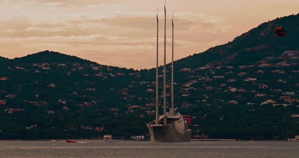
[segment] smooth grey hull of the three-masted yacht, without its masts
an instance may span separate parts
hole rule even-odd
[[[191,130],[181,116],[179,120],[166,125],[147,124],[151,142],[190,142]]]

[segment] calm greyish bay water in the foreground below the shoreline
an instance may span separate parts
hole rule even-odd
[[[83,141],[82,141],[83,142]],[[0,141],[0,157],[299,157],[299,142]]]

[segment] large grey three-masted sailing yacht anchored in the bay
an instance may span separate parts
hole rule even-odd
[[[159,116],[159,95],[158,95],[158,15],[157,15],[157,68],[156,68],[156,120],[147,124],[151,142],[190,142],[191,129],[183,115],[176,112],[177,107],[173,106],[173,19],[172,19],[172,63],[171,63],[171,108],[166,112],[166,7],[164,6],[164,74],[163,74],[163,97],[164,114]]]

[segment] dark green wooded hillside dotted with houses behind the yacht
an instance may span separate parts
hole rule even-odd
[[[299,56],[284,53],[299,49],[298,22],[299,15],[277,18],[174,63],[175,106],[192,116],[195,137],[299,134]],[[275,37],[277,25],[286,36]],[[146,123],[154,119],[155,69],[136,71],[45,51],[4,60],[0,71],[0,139],[148,135]],[[160,81],[162,74],[161,67]],[[160,83],[161,103],[162,89]]]

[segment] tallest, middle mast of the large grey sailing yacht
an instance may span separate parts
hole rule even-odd
[[[164,20],[164,73],[163,73],[164,125],[166,125],[166,7],[165,6],[164,6],[165,20]]]

